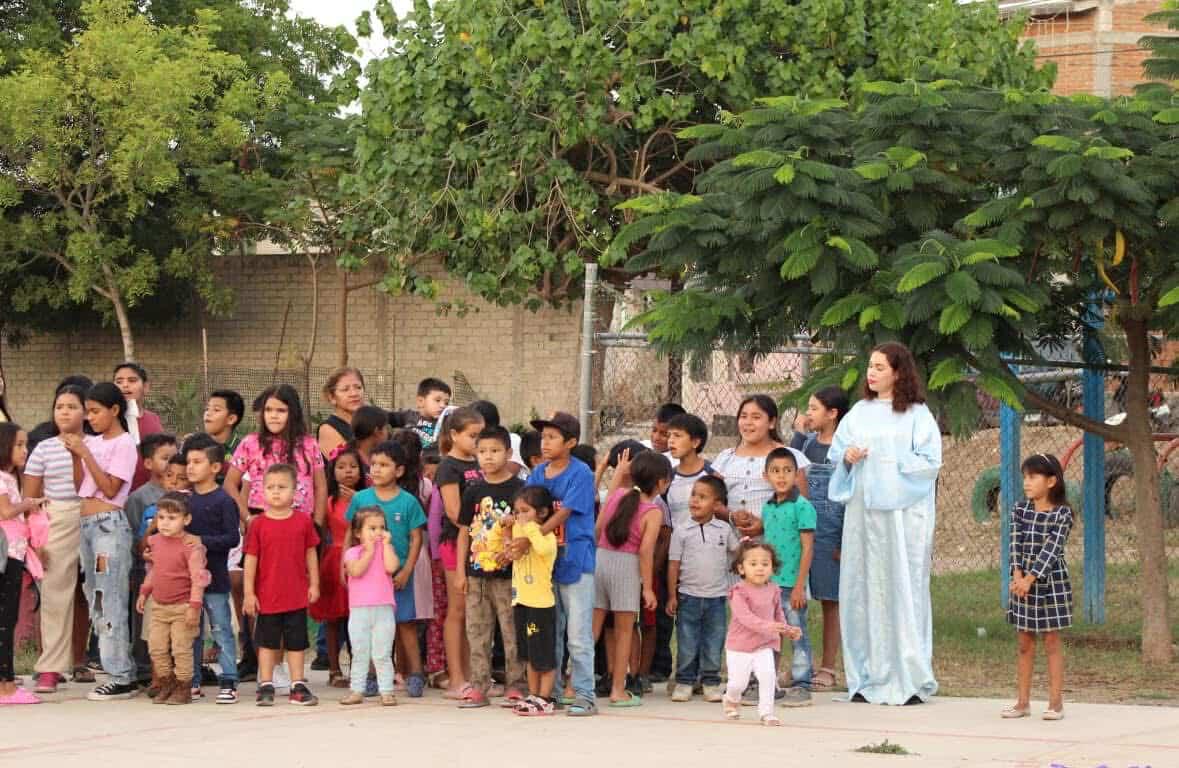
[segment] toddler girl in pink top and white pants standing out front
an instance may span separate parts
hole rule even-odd
[[[763,726],[780,726],[773,714],[777,675],[773,651],[782,646],[782,636],[802,637],[802,630],[786,624],[782,610],[782,591],[770,577],[782,566],[773,547],[760,540],[742,539],[732,570],[742,577],[729,591],[729,635],[725,637],[725,664],[729,687],[722,700],[726,720],[740,717],[740,697],[750,675],[757,675],[757,714]]]

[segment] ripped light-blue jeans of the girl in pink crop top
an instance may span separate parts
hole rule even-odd
[[[111,682],[130,684],[134,674],[127,625],[131,526],[123,510],[81,518],[81,566],[98,654]]]

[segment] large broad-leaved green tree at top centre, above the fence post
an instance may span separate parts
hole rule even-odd
[[[533,307],[578,294],[617,203],[691,189],[686,125],[922,60],[992,84],[1052,78],[1020,22],[954,0],[417,0],[377,15],[390,45],[368,68],[353,184],[373,201],[388,284],[428,293],[415,267],[441,256],[474,293]]]

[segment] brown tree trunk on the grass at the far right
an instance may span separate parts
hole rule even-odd
[[[1134,524],[1141,560],[1139,592],[1142,600],[1142,661],[1171,662],[1171,618],[1167,604],[1167,551],[1159,494],[1158,455],[1151,434],[1151,349],[1145,319],[1137,307],[1120,307],[1119,324],[1129,352],[1126,375],[1126,447],[1134,459]]]

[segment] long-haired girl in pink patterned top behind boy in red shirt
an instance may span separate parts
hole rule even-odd
[[[328,475],[320,444],[307,433],[298,393],[290,385],[266,387],[255,399],[253,412],[258,414],[258,431],[248,434],[233,451],[224,484],[237,499],[242,523],[266,506],[262,494],[266,470],[289,464],[296,473],[295,511],[311,516],[322,526],[328,512]],[[249,479],[243,483],[243,478]]]

